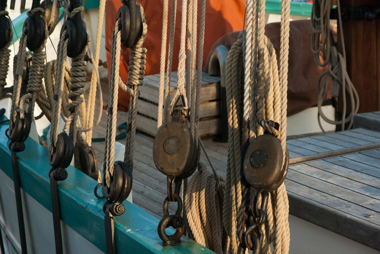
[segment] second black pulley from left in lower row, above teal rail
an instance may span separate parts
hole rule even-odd
[[[50,142],[53,142],[51,140]],[[57,142],[55,144],[52,154],[49,154],[49,163],[53,168],[69,167],[72,156],[74,155],[74,143],[67,133],[62,132],[58,135]]]

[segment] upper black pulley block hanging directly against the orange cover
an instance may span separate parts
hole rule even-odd
[[[126,48],[136,45],[143,33],[143,20],[136,1],[131,0],[121,6],[116,17],[120,19],[121,43]]]

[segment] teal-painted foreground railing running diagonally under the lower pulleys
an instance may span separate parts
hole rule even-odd
[[[7,128],[8,124],[0,125],[0,169],[13,179],[11,152],[8,149],[9,139],[4,135]],[[46,209],[52,211],[48,177],[51,167],[47,161],[48,152],[31,138],[26,140],[25,146],[25,151],[18,153],[21,188]],[[58,184],[61,219],[105,252],[106,238],[102,208],[104,200],[97,200],[93,193],[97,182],[72,166],[69,166],[67,171],[68,178]],[[135,254],[213,253],[187,237],[182,237],[184,242],[181,244],[163,247],[157,235],[159,220],[132,203],[126,201],[124,205],[126,207],[124,215],[115,218],[116,244],[120,250],[118,253],[122,253],[122,250]],[[53,224],[51,226],[53,227]],[[167,232],[173,233],[173,230]]]

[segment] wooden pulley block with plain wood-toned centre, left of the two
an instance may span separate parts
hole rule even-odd
[[[197,168],[200,150],[180,117],[181,110],[173,110],[172,122],[159,129],[153,143],[153,161],[163,174],[185,179]]]

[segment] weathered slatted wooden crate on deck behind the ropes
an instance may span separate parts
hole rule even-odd
[[[144,81],[145,85],[139,87],[137,130],[155,136],[157,133],[160,75],[145,76]],[[177,72],[172,72],[170,81],[170,98],[173,98],[177,90]],[[201,84],[199,135],[216,135],[220,123],[220,78],[203,72]],[[181,104],[181,100],[179,104]]]

